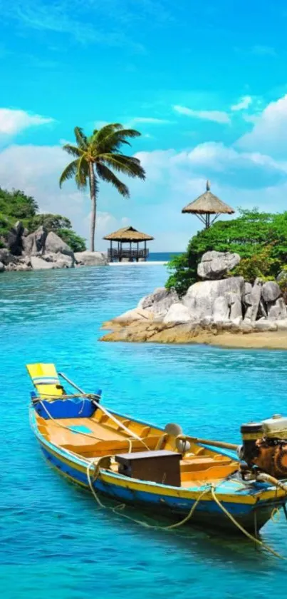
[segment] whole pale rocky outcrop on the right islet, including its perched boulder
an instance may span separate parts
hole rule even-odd
[[[113,333],[104,340],[184,343],[194,338],[198,329],[212,335],[219,331],[246,335],[287,330],[287,308],[278,284],[256,278],[251,285],[242,276],[216,278],[220,268],[229,270],[239,259],[237,254],[220,254],[217,268],[218,254],[207,252],[199,269],[202,277],[211,276],[210,280],[191,285],[181,300],[174,289],[155,289],[137,308],[107,323]]]

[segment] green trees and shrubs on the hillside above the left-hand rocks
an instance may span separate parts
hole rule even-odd
[[[39,214],[38,204],[32,196],[13,189],[0,188],[0,247],[16,221],[21,221],[31,233],[43,225],[48,231],[55,231],[59,237],[71,246],[73,251],[84,251],[85,240],[72,229],[71,221],[60,214]]]

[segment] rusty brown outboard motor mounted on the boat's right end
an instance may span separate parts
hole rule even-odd
[[[287,478],[287,418],[276,414],[243,424],[241,436],[238,455],[251,470],[256,466],[275,478]]]

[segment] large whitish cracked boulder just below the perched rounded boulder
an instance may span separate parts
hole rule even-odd
[[[234,304],[236,298],[238,302],[241,302],[243,289],[244,278],[241,276],[224,278],[219,281],[198,281],[189,287],[186,295],[182,298],[182,303],[189,309],[192,319],[199,323],[206,320],[212,321],[214,315],[216,319],[222,318],[222,315],[229,319],[231,303]],[[217,298],[222,297],[224,300],[216,301]],[[238,306],[239,303],[236,303],[236,312]]]

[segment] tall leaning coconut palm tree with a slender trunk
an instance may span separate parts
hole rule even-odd
[[[75,159],[66,166],[60,177],[60,187],[64,181],[75,177],[79,189],[85,189],[89,183],[92,214],[90,223],[90,250],[95,251],[95,223],[97,211],[98,182],[99,179],[112,183],[121,196],[128,198],[129,189],[115,175],[114,171],[145,179],[145,171],[140,160],[135,156],[125,156],[120,151],[123,144],[130,146],[129,138],[140,136],[135,129],[124,129],[119,123],[105,125],[95,129],[90,137],[86,137],[83,129],[75,127],[76,146],[66,144],[63,150],[74,156]],[[113,168],[113,170],[111,170]]]

